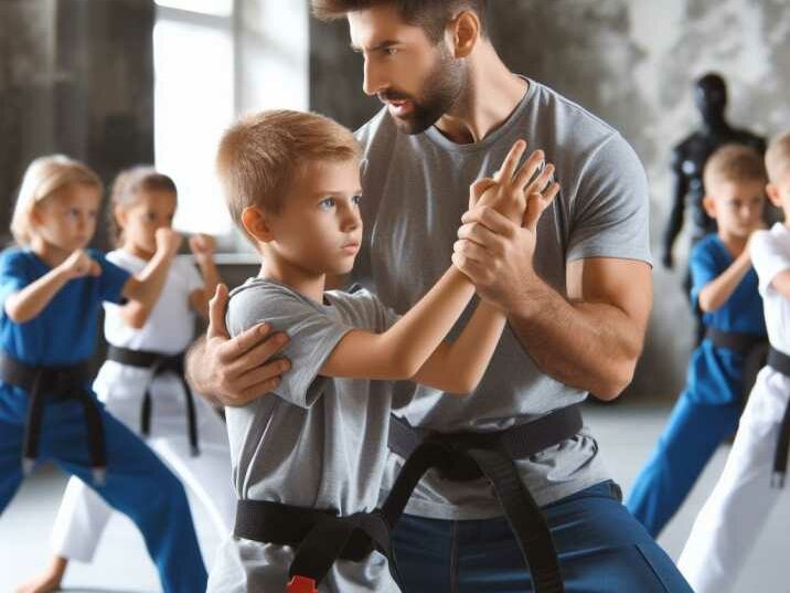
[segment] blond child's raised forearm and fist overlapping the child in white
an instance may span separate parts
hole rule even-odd
[[[171,229],[157,230],[157,253],[142,272],[131,276],[124,285],[122,296],[132,303],[121,307],[120,315],[132,328],[146,325],[153,306],[164,288],[170,264],[181,245],[181,236]]]

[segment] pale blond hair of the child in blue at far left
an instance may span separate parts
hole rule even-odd
[[[72,184],[102,191],[102,180],[93,169],[64,155],[40,157],[28,166],[11,218],[11,234],[17,243],[28,246],[33,241],[31,216],[35,207]]]

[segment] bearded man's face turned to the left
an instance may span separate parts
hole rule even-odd
[[[387,105],[398,129],[420,134],[456,104],[467,70],[445,40],[434,45],[425,30],[381,6],[349,13],[351,45],[364,59],[363,91]]]

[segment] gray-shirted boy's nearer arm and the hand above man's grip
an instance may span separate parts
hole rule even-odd
[[[522,141],[511,148],[497,182],[482,180],[472,186],[472,200],[477,198],[476,192],[483,188],[490,189],[492,202],[521,219],[524,188],[541,160],[533,159],[533,163],[527,161],[516,172],[525,148]],[[534,165],[534,168],[530,165]],[[455,265],[450,266],[428,294],[384,333],[363,330],[348,332],[324,361],[320,373],[324,377],[381,380],[413,378],[452,329],[473,294],[474,287],[466,275]]]

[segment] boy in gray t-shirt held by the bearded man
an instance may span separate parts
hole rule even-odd
[[[551,182],[551,166],[533,180],[540,151],[516,170],[524,149],[515,142],[497,181],[476,182],[470,202],[536,232],[558,186]],[[504,316],[483,304],[453,342],[442,342],[473,296],[458,269],[476,265],[473,253],[453,256],[457,265],[401,318],[366,290],[324,293],[328,274],[351,271],[362,240],[360,153],[339,124],[285,110],[243,119],[221,142],[217,165],[232,216],[261,254],[259,276],[232,293],[227,327],[236,336],[264,320],[288,331],[284,353],[293,371],[274,396],[227,409],[241,501],[209,591],[282,592],[289,581],[293,590],[397,591],[378,552],[360,562],[339,560],[321,582],[289,574],[299,542],[250,536],[250,525],[273,508],[271,517],[295,520],[314,509],[340,517],[372,511],[387,455],[388,381],[414,379],[468,393],[499,342]]]

